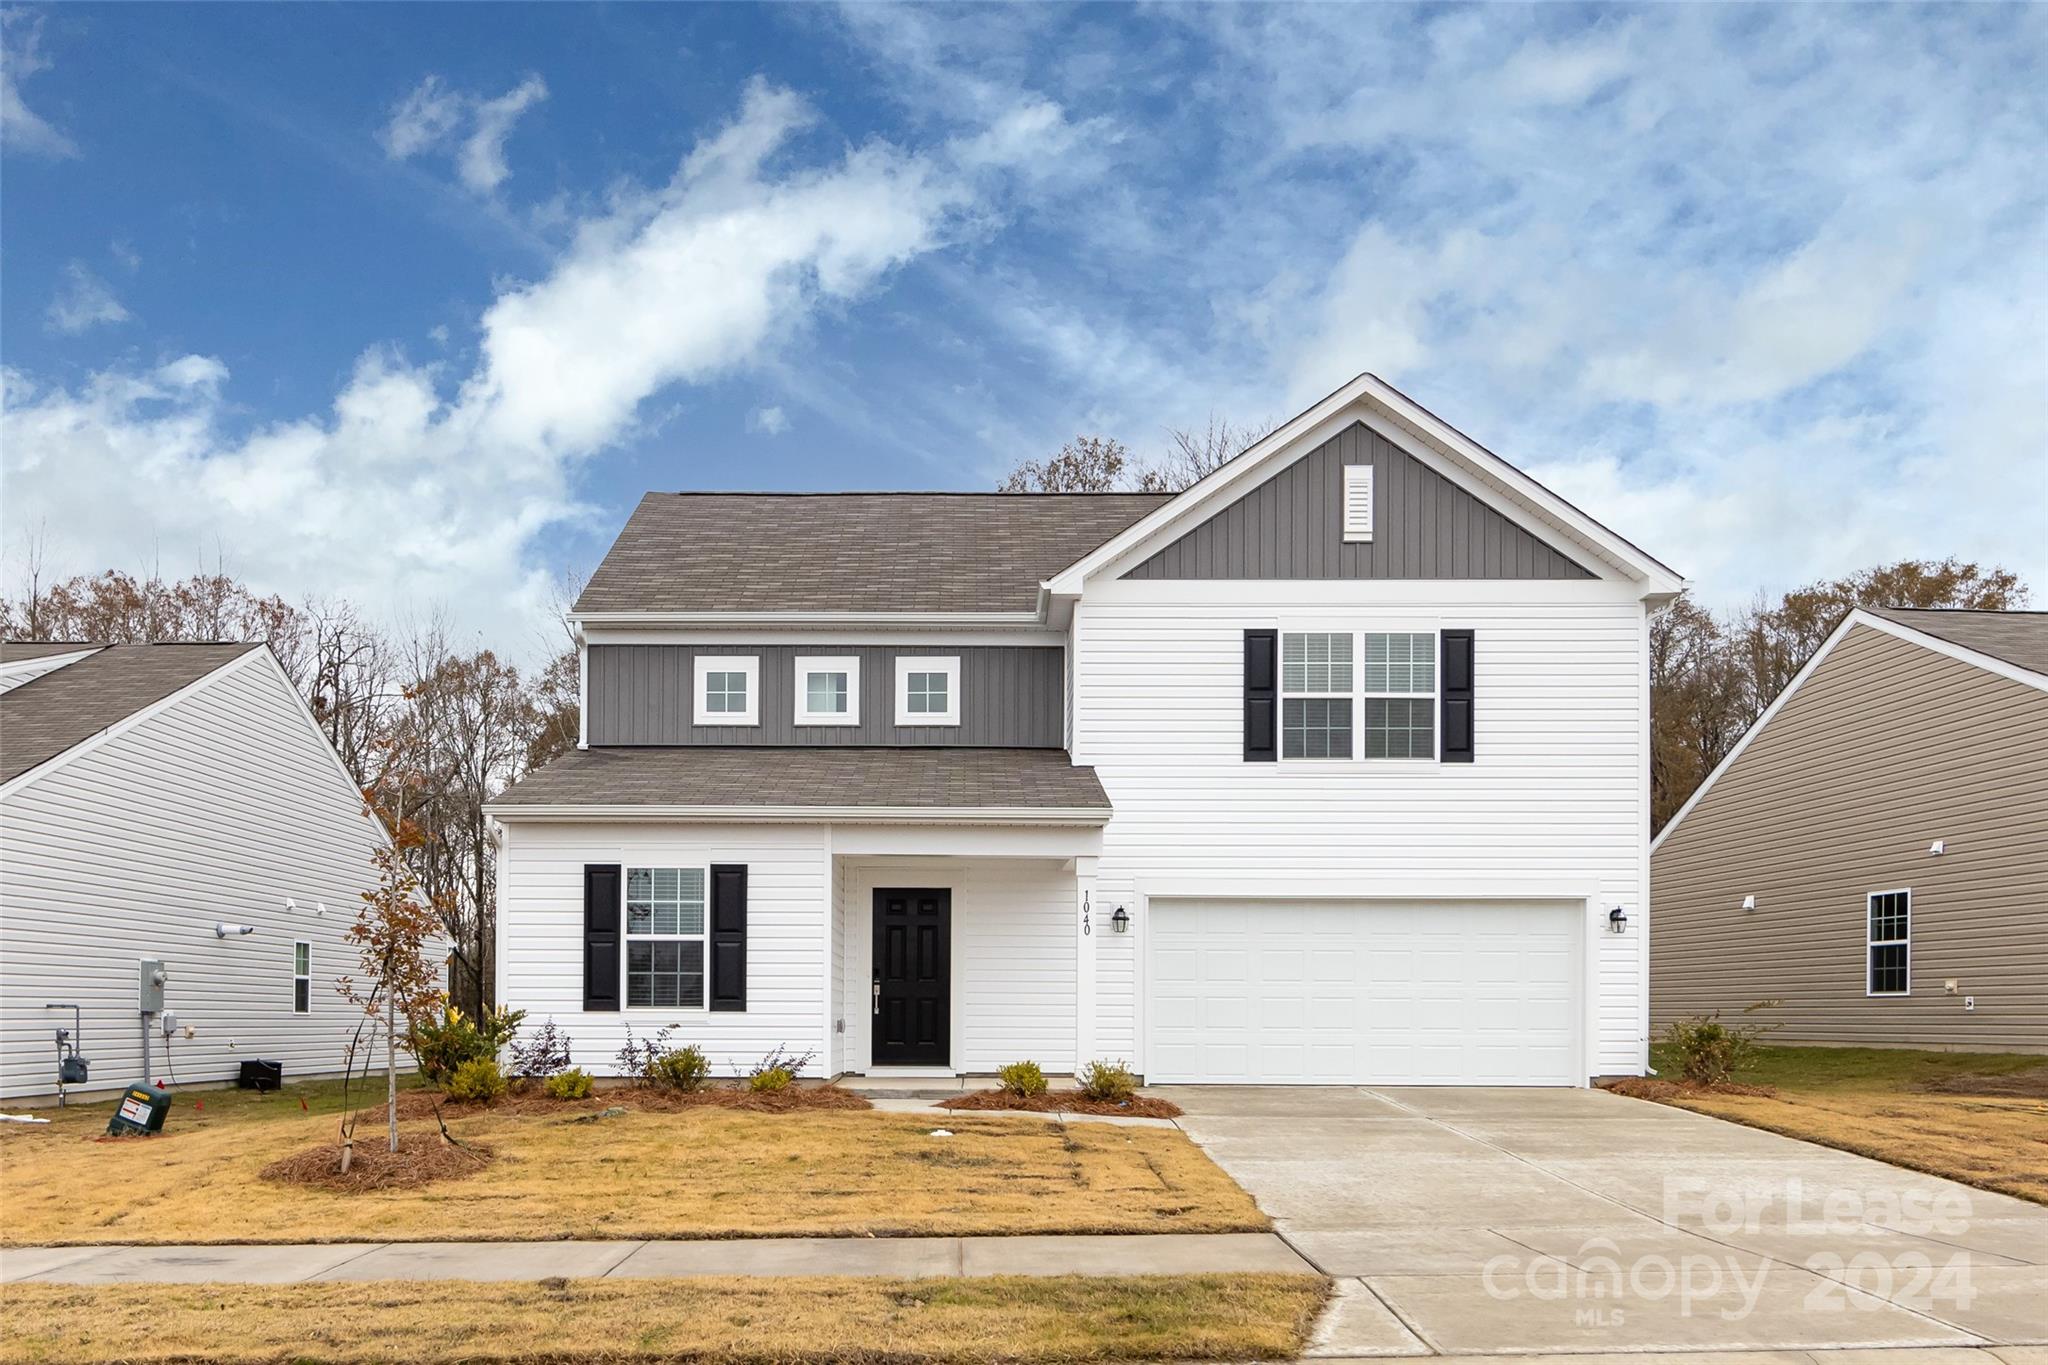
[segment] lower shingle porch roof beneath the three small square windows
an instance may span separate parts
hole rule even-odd
[[[578,749],[492,802],[518,806],[889,806],[1100,810],[1063,749]]]

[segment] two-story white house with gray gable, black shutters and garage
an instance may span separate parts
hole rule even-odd
[[[1178,495],[649,493],[500,999],[598,1072],[1640,1072],[1681,585],[1372,377]]]

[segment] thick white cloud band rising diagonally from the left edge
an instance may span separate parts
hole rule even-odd
[[[580,516],[580,465],[651,395],[762,362],[944,239],[961,196],[928,158],[866,143],[768,174],[811,121],[750,86],[668,184],[623,190],[543,278],[500,291],[469,372],[373,346],[328,411],[238,430],[217,358],[78,385],[10,370],[10,518],[53,569],[223,546],[266,591],[442,602],[526,639],[549,596],[535,538]]]

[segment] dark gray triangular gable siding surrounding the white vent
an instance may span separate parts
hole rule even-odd
[[[1343,540],[1343,467],[1372,465],[1372,540]],[[1126,579],[1589,579],[1391,440],[1354,422]]]

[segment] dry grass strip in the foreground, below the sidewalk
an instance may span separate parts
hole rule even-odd
[[[0,1361],[1282,1361],[1315,1275],[6,1285]]]

